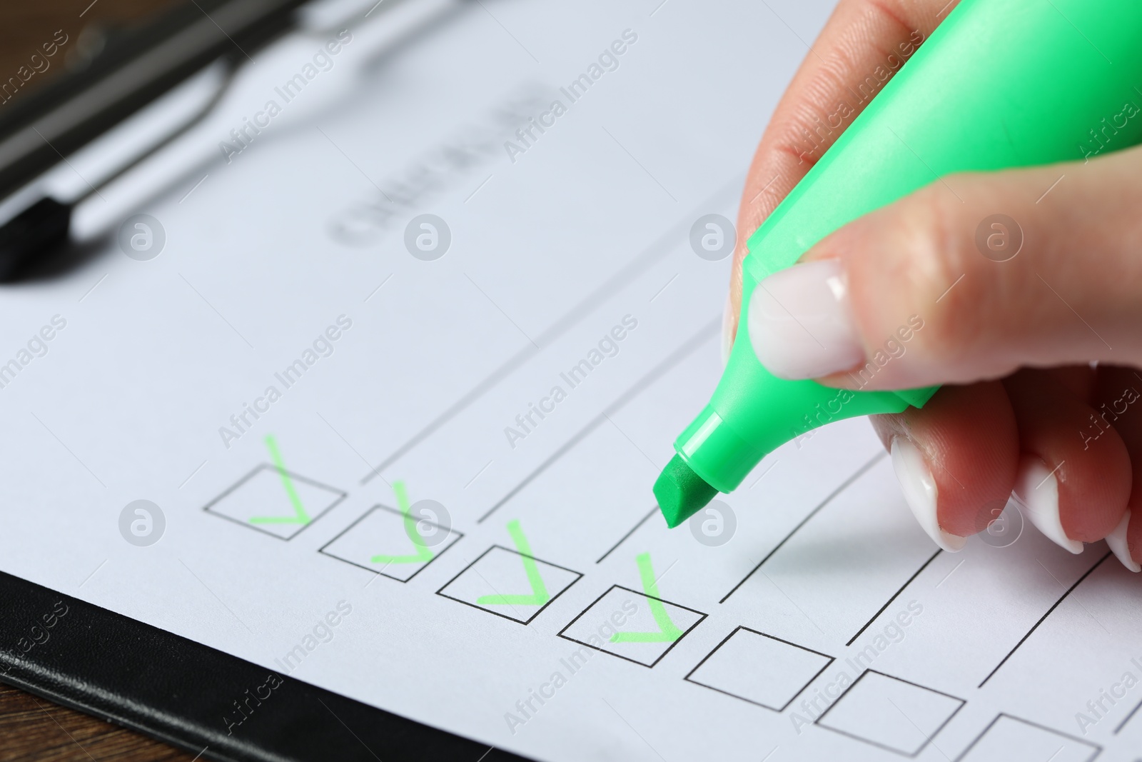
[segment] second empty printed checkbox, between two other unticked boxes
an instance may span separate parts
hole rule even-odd
[[[870,669],[818,717],[817,724],[916,756],[962,706],[964,699]]]

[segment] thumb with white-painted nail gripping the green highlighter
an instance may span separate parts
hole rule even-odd
[[[1142,364],[1142,149],[944,177],[754,289],[783,378],[912,388],[1022,366]]]

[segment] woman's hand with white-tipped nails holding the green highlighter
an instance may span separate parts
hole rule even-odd
[[[727,343],[745,240],[867,105],[859,97],[869,83],[883,87],[880,74],[899,69],[954,6],[838,5],[746,182]],[[829,131],[839,104],[852,113]],[[1078,553],[1105,538],[1139,571],[1142,150],[1112,149],[1068,165],[946,177],[838,230],[759,284],[797,318],[750,313],[754,348],[772,372],[861,390],[949,384],[923,409],[874,417],[909,506],[946,550],[984,529],[1014,492],[1059,545]],[[827,326],[827,340],[805,326]]]

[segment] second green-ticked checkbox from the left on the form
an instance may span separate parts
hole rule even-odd
[[[449,527],[375,505],[320,552],[403,583],[461,537]]]

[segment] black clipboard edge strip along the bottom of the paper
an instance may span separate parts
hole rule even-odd
[[[0,682],[199,759],[524,759],[3,572],[0,611]]]

